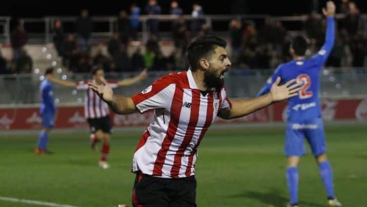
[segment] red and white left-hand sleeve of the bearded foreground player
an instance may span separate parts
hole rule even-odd
[[[131,97],[138,110],[143,113],[150,109],[170,107],[176,84],[168,76],[158,79],[145,90]]]

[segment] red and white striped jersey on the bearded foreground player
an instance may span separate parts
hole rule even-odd
[[[202,92],[191,70],[163,76],[131,97],[153,119],[134,153],[132,172],[162,178],[195,175],[199,146],[219,110],[230,110],[225,88]]]

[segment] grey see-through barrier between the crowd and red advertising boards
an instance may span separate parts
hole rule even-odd
[[[230,98],[255,97],[256,93],[272,75],[273,70],[229,70],[226,74],[226,89]],[[136,75],[132,73],[106,73],[106,79],[122,80]],[[144,90],[152,82],[168,74],[169,71],[149,71],[147,79],[129,87],[114,89],[115,93],[131,96]],[[57,74],[56,77],[69,81],[90,79],[90,74]],[[0,76],[0,105],[39,103],[39,85],[44,77],[40,74],[8,74]],[[84,91],[65,88],[54,84],[54,98],[57,103],[82,103]],[[321,98],[367,98],[367,69],[366,68],[324,68],[321,71]]]

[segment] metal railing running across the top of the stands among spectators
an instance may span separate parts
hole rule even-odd
[[[214,23],[220,23],[220,22],[226,22],[229,23],[230,20],[236,18],[240,20],[246,20],[246,21],[261,21],[265,18],[270,17],[273,21],[281,21],[281,22],[304,22],[307,19],[307,15],[298,15],[298,16],[269,16],[266,14],[259,14],[259,15],[202,15],[199,17],[192,17],[191,15],[183,15],[185,17],[185,20],[192,21],[192,20],[205,20],[206,24],[209,25],[209,27],[212,29],[212,31],[216,34],[225,35],[228,36],[228,31],[220,31],[217,30],[214,26]],[[338,20],[342,19],[345,15],[344,14],[337,14],[336,18]],[[149,37],[149,31],[148,31],[148,25],[147,21],[149,19],[158,20],[159,22],[171,22],[173,20],[178,20],[177,15],[141,15],[139,17],[139,20],[141,21],[141,32],[140,36],[143,42],[146,42]],[[367,15],[362,14],[361,17],[364,20],[367,20]],[[26,26],[27,31],[27,25],[31,24],[41,24],[42,29],[38,29],[38,31],[27,31],[28,34],[30,34],[31,37],[38,37],[43,38],[42,43],[49,43],[51,41],[51,34],[54,28],[54,23],[56,20],[61,20],[64,24],[75,24],[78,16],[46,16],[43,18],[21,18],[20,22],[23,26]],[[322,18],[322,16],[319,14],[317,15],[317,18]],[[115,30],[115,25],[117,23],[118,17],[117,16],[92,16],[91,20],[93,23],[97,24],[105,24],[104,27],[99,27],[99,29],[102,29],[102,31],[93,31],[91,34],[92,39],[96,39],[99,37],[108,38],[111,36],[113,31]],[[103,29],[104,28],[104,29]],[[226,28],[227,29],[227,28]],[[75,30],[67,31],[70,33],[75,33]],[[289,31],[290,33],[295,33],[299,31]],[[164,31],[160,30],[161,34],[166,34],[162,36],[169,36],[170,31]]]

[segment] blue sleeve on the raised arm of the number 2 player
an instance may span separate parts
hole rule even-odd
[[[325,34],[325,43],[322,45],[321,49],[317,54],[314,55],[314,59],[317,60],[319,64],[323,64],[327,57],[329,57],[330,52],[333,49],[334,41],[335,41],[335,23],[334,17],[326,18],[326,34]]]

